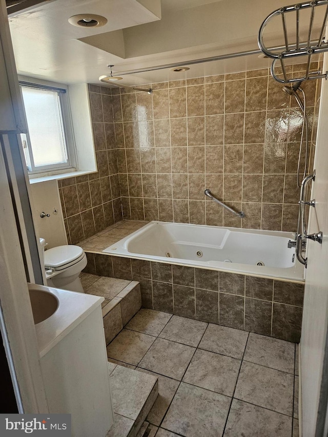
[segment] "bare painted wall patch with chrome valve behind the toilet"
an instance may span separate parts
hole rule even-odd
[[[33,183],[30,185],[30,193],[36,234],[46,240],[48,248],[67,244],[57,181]],[[54,214],[55,210],[57,214]],[[41,212],[50,214],[50,217],[41,218]]]

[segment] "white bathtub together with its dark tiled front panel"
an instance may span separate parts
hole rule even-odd
[[[144,308],[298,342],[304,270],[293,237],[150,222],[104,251],[86,249],[85,272],[138,281]]]

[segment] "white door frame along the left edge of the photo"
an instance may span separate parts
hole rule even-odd
[[[47,413],[17,214],[3,154],[12,144],[19,149],[17,134],[26,130],[5,0],[0,0],[0,65],[0,87],[9,90],[0,103],[6,113],[6,126],[0,131],[0,330],[19,413]]]

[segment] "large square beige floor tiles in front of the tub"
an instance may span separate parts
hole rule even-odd
[[[294,343],[141,309],[107,351],[158,377],[156,437],[298,436]]]

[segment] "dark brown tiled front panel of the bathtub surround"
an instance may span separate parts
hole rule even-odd
[[[87,253],[85,272],[135,280],[141,305],[299,342],[304,284]]]

